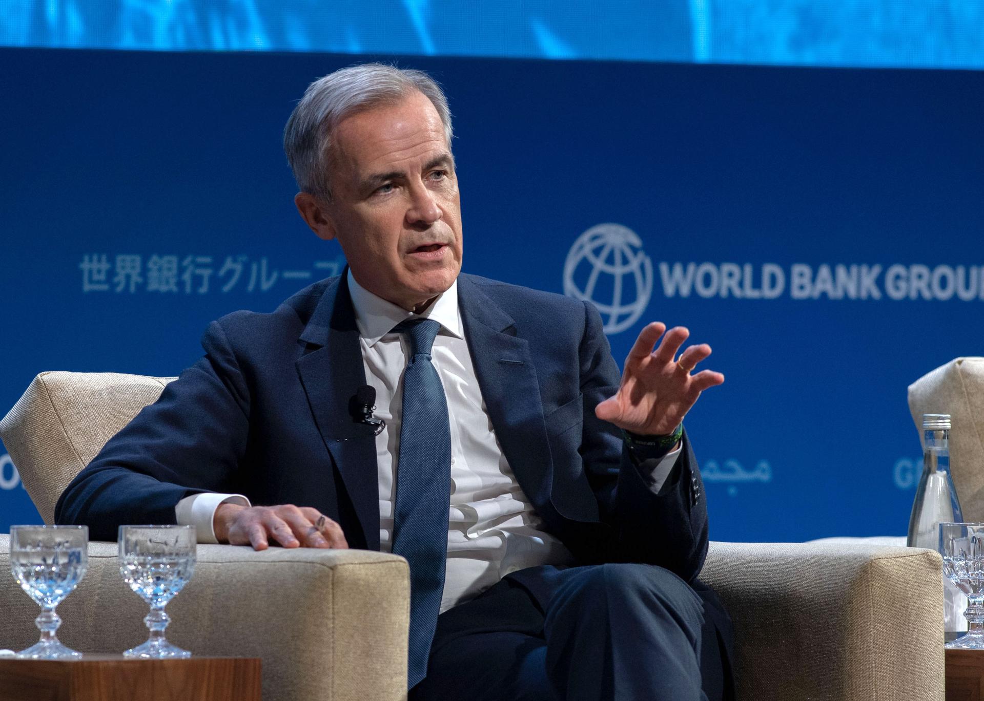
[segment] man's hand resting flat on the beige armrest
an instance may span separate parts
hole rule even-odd
[[[341,527],[316,508],[281,504],[219,504],[213,525],[219,543],[267,550],[271,539],[284,548],[348,548]]]

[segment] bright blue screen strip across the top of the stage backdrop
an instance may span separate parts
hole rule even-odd
[[[0,45],[984,68],[984,2],[0,0]]]

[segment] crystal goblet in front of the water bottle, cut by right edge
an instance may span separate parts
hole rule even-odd
[[[943,573],[967,595],[967,632],[948,648],[984,650],[984,523],[941,523]]]

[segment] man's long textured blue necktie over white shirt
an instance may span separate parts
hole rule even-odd
[[[406,337],[410,355],[403,373],[393,519],[393,552],[410,563],[409,688],[427,675],[448,556],[451,430],[444,388],[431,364],[440,327],[437,321],[416,319],[394,329]]]

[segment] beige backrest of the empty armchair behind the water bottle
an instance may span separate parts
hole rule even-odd
[[[950,466],[963,520],[984,521],[984,358],[956,358],[910,384],[909,410],[920,440],[923,414],[953,417]]]

